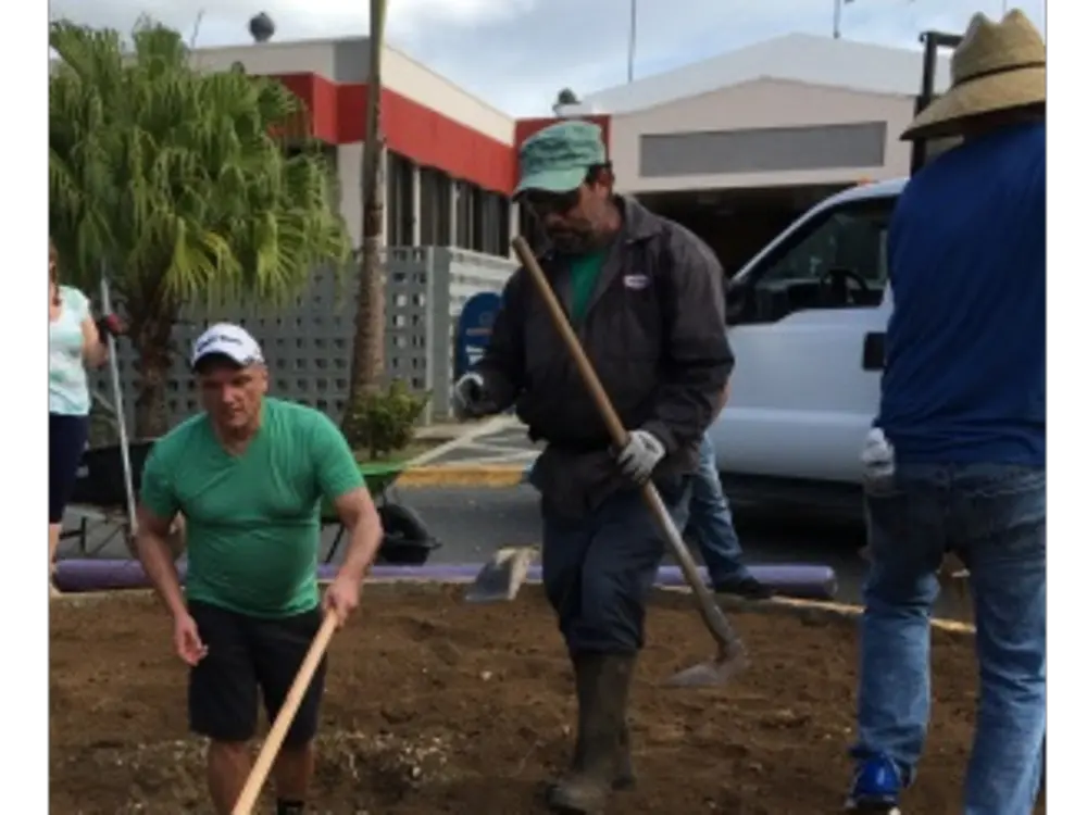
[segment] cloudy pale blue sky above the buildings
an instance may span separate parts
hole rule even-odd
[[[833,32],[834,0],[635,2],[636,78],[794,32]],[[549,114],[563,87],[584,96],[626,82],[632,0],[388,3],[389,45],[514,115]],[[921,30],[961,32],[975,12],[999,17],[1004,8],[1045,29],[1047,0],[847,0],[841,34],[915,47]],[[225,46],[251,41],[248,22],[260,11],[285,41],[364,35],[367,9],[365,0],[51,0],[49,16],[127,32],[148,14],[187,37],[199,16],[197,45]]]

